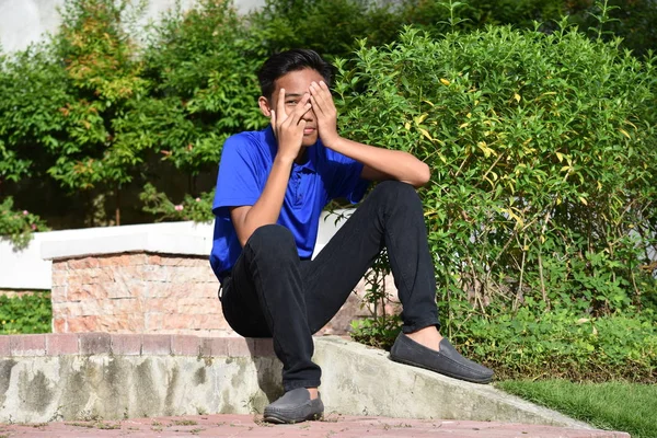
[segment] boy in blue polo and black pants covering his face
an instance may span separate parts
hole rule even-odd
[[[312,50],[263,65],[258,105],[270,126],[226,141],[212,206],[210,263],[226,320],[242,336],[273,337],[283,362],[286,393],[264,414],[273,423],[322,416],[312,334],[383,247],[403,306],[391,359],[471,382],[493,377],[438,332],[433,257],[415,193],[429,168],[410,153],[341,137],[331,79],[332,66]],[[381,183],[311,260],[322,209],[334,198],[358,203],[371,181]]]

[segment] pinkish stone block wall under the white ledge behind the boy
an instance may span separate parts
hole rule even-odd
[[[94,255],[53,261],[54,333],[153,333],[232,336],[207,256]],[[346,334],[366,313],[347,303],[320,334]]]

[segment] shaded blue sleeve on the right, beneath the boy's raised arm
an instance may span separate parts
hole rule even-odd
[[[334,151],[330,151],[328,162],[333,175],[327,191],[330,198],[346,198],[351,204],[360,201],[370,183],[360,177],[362,163]]]

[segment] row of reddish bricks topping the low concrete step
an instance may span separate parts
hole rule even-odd
[[[67,355],[275,357],[269,338],[114,333],[0,336],[0,357]]]

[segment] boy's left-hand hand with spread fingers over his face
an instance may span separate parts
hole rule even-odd
[[[301,143],[303,141],[303,128],[306,120],[302,118],[311,108],[310,93],[304,93],[302,97],[289,96],[289,103],[295,104],[293,110],[287,114],[286,106],[288,102],[285,95],[285,89],[280,89],[276,102],[276,111],[272,110],[272,127],[278,142],[277,158],[293,161],[299,155]]]

